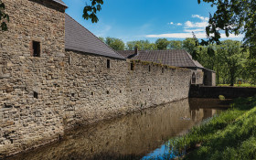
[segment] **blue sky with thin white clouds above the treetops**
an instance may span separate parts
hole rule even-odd
[[[205,38],[209,13],[215,8],[197,4],[197,0],[105,0],[98,14],[100,21],[92,24],[84,20],[83,7],[89,0],[63,0],[69,6],[66,13],[98,37],[118,37],[124,42],[159,37],[183,40]],[[229,38],[241,39],[230,35]]]

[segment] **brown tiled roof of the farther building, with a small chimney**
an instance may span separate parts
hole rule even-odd
[[[192,56],[186,50],[139,50],[137,56],[132,55],[134,50],[118,51],[126,59],[139,59],[143,61],[152,61],[162,63],[168,66],[185,67],[185,68],[204,68],[197,60],[193,60]],[[131,58],[132,57],[132,58]]]

